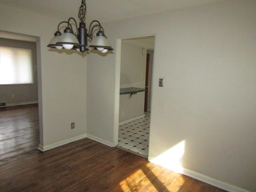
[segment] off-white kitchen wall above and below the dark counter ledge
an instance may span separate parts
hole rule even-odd
[[[120,88],[145,87],[146,54],[142,54],[142,46],[122,41]],[[119,122],[144,114],[145,92],[120,95]]]

